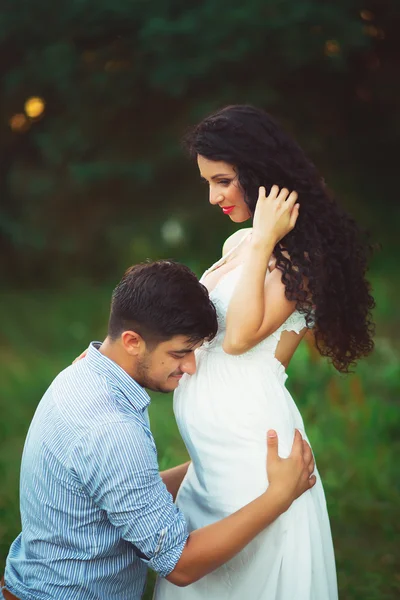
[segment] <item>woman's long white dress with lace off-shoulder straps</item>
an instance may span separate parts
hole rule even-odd
[[[196,351],[197,372],[182,377],[174,396],[176,421],[192,459],[176,503],[190,531],[230,515],[265,491],[268,429],[278,432],[282,457],[290,453],[295,428],[307,439],[285,387],[284,367],[275,358],[281,332],[299,333],[304,317],[293,313],[240,356],[222,349],[226,312],[240,273],[241,265],[228,271],[210,293],[218,315],[217,336]],[[329,518],[316,475],[316,485],[236,557],[185,588],[158,579],[154,599],[337,599]]]

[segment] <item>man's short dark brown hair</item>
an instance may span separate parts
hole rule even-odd
[[[188,267],[160,260],[130,267],[113,292],[108,335],[139,333],[154,346],[175,335],[212,339],[217,316],[207,289]]]

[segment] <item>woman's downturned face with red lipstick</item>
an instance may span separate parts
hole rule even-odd
[[[244,194],[240,188],[239,180],[232,165],[208,160],[197,156],[200,176],[210,188],[210,204],[219,206],[231,221],[243,223],[251,217],[250,210],[244,201]]]

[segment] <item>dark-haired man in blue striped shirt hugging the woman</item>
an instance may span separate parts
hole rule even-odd
[[[188,464],[159,473],[144,388],[174,390],[183,373],[195,372],[195,349],[216,331],[208,293],[186,267],[160,261],[125,273],[106,340],[56,377],[32,420],[6,599],[138,600],[148,567],[188,585],[230,560],[314,485],[300,434],[285,460],[272,435],[265,493],[188,533],[173,503]]]

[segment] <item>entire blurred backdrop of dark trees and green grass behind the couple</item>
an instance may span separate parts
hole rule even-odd
[[[200,274],[232,233],[180,139],[212,110],[251,103],[298,139],[380,246],[373,356],[343,378],[306,346],[289,387],[325,482],[341,598],[398,596],[399,27],[396,0],[3,0],[2,557],[20,527],[32,414],[104,336],[123,270],[172,257]],[[161,464],[174,464],[185,451],[168,398],[154,397],[152,418]]]

